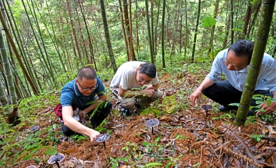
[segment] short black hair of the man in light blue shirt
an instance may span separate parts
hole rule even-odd
[[[239,40],[230,45],[228,52],[232,50],[237,57],[247,57],[248,65],[251,61],[254,49],[254,42],[248,40]]]

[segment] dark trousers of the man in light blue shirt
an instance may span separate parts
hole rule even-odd
[[[236,90],[228,81],[216,82],[205,90],[202,90],[202,94],[224,106],[228,106],[230,103],[239,103],[242,97],[242,92]],[[273,94],[270,94],[269,90],[255,90],[254,94],[273,97]],[[256,101],[253,98],[251,106],[256,105]]]

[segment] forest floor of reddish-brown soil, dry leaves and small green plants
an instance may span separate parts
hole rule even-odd
[[[112,97],[112,114],[98,127],[101,133],[110,134],[110,140],[91,145],[88,138],[63,140],[57,134],[57,151],[66,156],[61,167],[275,167],[276,125],[271,118],[251,116],[243,127],[235,127],[235,111],[219,112],[217,103],[201,97],[200,104],[213,105],[213,110],[202,111],[199,105],[192,107],[189,95],[207,73],[190,74],[188,71],[159,75],[160,90],[164,99],[152,103],[143,111],[134,110],[134,115],[119,116],[121,105]],[[110,81],[104,83],[108,87]],[[226,95],[227,96],[227,95]],[[55,105],[37,111],[39,129],[53,124],[46,115],[55,117]],[[152,129],[145,122],[159,119],[160,124]],[[21,127],[27,129],[28,127]],[[60,127],[55,129],[59,132]],[[41,135],[47,136],[47,135]],[[250,138],[253,136],[254,138]],[[63,142],[64,141],[64,142]],[[259,141],[259,142],[258,142]],[[41,152],[36,157],[41,161],[25,160],[16,167],[57,167],[48,165],[47,156]]]

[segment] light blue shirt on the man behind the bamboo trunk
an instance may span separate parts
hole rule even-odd
[[[250,66],[248,65],[243,70],[239,71],[228,70],[225,65],[227,52],[228,49],[222,50],[217,54],[210,73],[206,78],[210,78],[210,80],[215,83],[219,81],[221,73],[224,73],[229,83],[242,92]],[[276,90],[276,61],[269,54],[264,53],[255,90],[270,90],[270,94],[273,94],[273,91]]]

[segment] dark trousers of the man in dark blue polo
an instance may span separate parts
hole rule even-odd
[[[112,108],[112,104],[109,101],[105,101],[99,105],[97,111],[95,112],[94,116],[90,118],[91,125],[98,126],[103,122],[103,120],[110,114]],[[87,115],[90,116],[94,112],[94,109],[91,110]],[[63,122],[61,122],[61,132],[65,136],[74,136],[74,135],[81,135],[77,132],[72,131],[70,128],[66,127]]]

